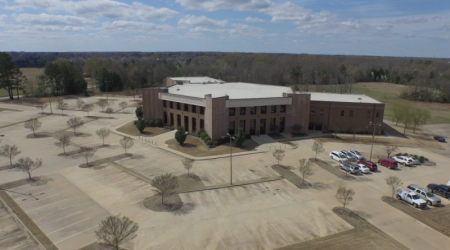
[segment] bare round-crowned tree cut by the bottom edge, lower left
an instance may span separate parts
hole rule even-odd
[[[126,216],[108,216],[100,222],[99,229],[95,231],[95,234],[101,242],[119,250],[122,243],[136,238],[138,229],[139,225]]]

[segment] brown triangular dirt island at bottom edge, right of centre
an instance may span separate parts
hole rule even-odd
[[[360,250],[360,249],[390,249],[407,250],[408,248],[391,236],[367,222],[360,215],[349,209],[342,213],[342,208],[336,207],[333,212],[355,227],[352,230],[316,238],[298,244],[278,248],[278,250]]]

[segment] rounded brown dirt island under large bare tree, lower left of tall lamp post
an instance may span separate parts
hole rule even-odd
[[[194,203],[183,203],[180,195],[164,196],[164,204],[162,204],[161,195],[153,195],[144,200],[144,206],[154,212],[170,212],[175,215],[184,215],[195,209]]]

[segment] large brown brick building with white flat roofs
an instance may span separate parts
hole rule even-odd
[[[289,87],[223,82],[207,77],[168,78],[167,87],[143,90],[145,120],[160,119],[212,140],[243,128],[246,134],[307,130],[366,133],[383,121],[384,103],[359,94],[294,92]],[[376,129],[381,133],[381,128]]]

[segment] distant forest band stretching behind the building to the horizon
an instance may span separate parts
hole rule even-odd
[[[221,52],[9,54],[22,68],[48,68],[68,62],[84,77],[90,77],[92,83],[95,80],[102,90],[108,86],[110,91],[161,86],[168,76],[209,76],[230,82],[292,86],[303,91],[337,85],[340,87],[336,91],[340,92],[350,92],[352,83],[383,81],[410,86],[402,94],[406,99],[450,101],[450,59],[443,58]],[[55,74],[47,77],[58,79]]]

